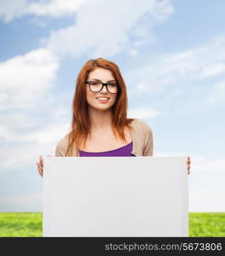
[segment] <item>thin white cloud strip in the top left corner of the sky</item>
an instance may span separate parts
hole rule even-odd
[[[61,17],[74,15],[87,0],[50,0],[29,2],[28,0],[0,0],[0,18],[9,22],[24,15]]]

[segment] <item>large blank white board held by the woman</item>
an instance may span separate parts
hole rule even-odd
[[[45,157],[43,236],[188,236],[185,157]]]

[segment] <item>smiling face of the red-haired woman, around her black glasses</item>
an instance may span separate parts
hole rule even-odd
[[[116,83],[116,80],[113,77],[113,74],[110,70],[105,68],[97,67],[95,70],[89,73],[88,81],[99,80],[102,83]],[[101,101],[96,99],[97,97],[108,97],[107,101]],[[89,84],[86,84],[86,97],[89,107],[99,109],[99,110],[107,110],[111,108],[116,101],[117,93],[112,94],[107,91],[106,86],[99,92],[92,92],[89,90]]]

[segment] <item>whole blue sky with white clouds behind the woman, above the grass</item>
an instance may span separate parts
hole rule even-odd
[[[42,211],[35,162],[68,131],[75,79],[96,57],[120,67],[153,154],[191,156],[189,210],[224,212],[224,2],[0,3],[1,212]]]

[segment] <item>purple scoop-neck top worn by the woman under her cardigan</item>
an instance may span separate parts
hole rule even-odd
[[[133,149],[133,142],[117,149],[103,151],[103,152],[87,152],[83,150],[79,150],[80,156],[135,156],[131,154]]]

